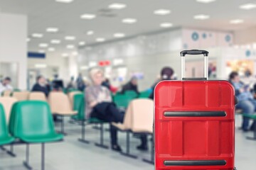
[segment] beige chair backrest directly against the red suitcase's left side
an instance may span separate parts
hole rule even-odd
[[[132,105],[132,131],[153,132],[154,101],[151,99],[135,99]]]

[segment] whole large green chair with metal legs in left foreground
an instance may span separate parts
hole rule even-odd
[[[29,165],[29,144],[41,143],[41,169],[45,169],[45,143],[59,142],[63,135],[57,134],[54,129],[52,114],[48,103],[44,101],[20,101],[11,111],[10,125],[12,135],[21,142],[26,143],[26,161],[23,165],[32,169]]]

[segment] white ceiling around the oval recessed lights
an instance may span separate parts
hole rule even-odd
[[[112,3],[127,4],[127,8],[110,10]],[[70,4],[57,3],[55,0],[0,0],[0,11],[5,13],[23,13],[28,15],[28,37],[32,33],[43,33],[43,38],[31,38],[28,50],[38,51],[39,43],[48,43],[58,52],[70,52],[66,45],[78,46],[85,41],[95,44],[96,38],[113,40],[114,33],[125,33],[127,37],[161,31],[160,23],[170,22],[175,27],[207,28],[215,30],[237,30],[256,26],[256,8],[242,10],[240,5],[255,0],[216,0],[202,4],[196,0],[74,0]],[[159,8],[170,9],[166,16],[156,16],[153,11]],[[102,16],[110,14],[113,17]],[[82,20],[83,13],[94,13],[96,18]],[[204,21],[194,20],[196,14],[206,14],[210,18]],[[122,23],[123,18],[137,18],[134,24]],[[244,23],[233,25],[230,20],[242,19]],[[58,33],[46,33],[46,28],[57,27]],[[94,35],[87,35],[87,30],[94,30]],[[76,40],[65,40],[66,35],[74,35]],[[51,45],[50,40],[59,39],[60,45]],[[47,50],[47,48],[46,48]]]

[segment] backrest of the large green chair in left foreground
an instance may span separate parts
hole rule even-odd
[[[24,138],[55,133],[50,107],[45,101],[19,101],[14,111],[14,137]]]

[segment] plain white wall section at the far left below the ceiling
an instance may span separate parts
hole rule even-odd
[[[18,64],[18,89],[26,89],[27,83],[26,38],[26,16],[0,13],[0,61]]]

